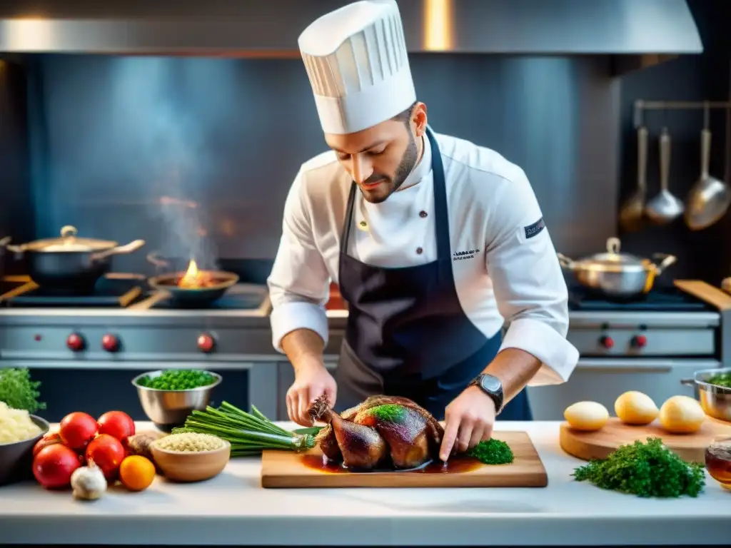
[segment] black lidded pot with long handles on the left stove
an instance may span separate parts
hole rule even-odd
[[[111,266],[111,257],[129,254],[145,245],[134,240],[120,246],[112,240],[77,237],[75,227],[61,229],[61,237],[35,240],[19,246],[5,244],[7,251],[26,259],[28,275],[39,286],[92,292]]]

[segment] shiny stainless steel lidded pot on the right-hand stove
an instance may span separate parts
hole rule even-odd
[[[573,260],[556,254],[561,266],[571,270],[576,280],[588,289],[601,292],[607,297],[637,297],[652,289],[655,278],[675,262],[675,256],[655,254],[653,259],[619,252],[620,241],[607,239],[607,252]]]

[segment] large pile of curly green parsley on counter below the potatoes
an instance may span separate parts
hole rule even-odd
[[[647,443],[619,447],[605,460],[592,460],[572,475],[577,482],[638,497],[697,497],[705,485],[703,468],[700,463],[686,463],[661,438],[647,438]]]

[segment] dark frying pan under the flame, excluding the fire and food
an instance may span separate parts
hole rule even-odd
[[[157,267],[163,267],[168,263],[154,254],[149,254],[147,259]],[[159,289],[170,294],[173,305],[180,308],[200,308],[211,305],[212,302],[223,297],[227,290],[238,282],[238,274],[224,272],[223,270],[206,270],[213,276],[215,283],[206,287],[181,287],[178,282],[185,271],[172,272],[156,275],[148,280],[154,289]]]

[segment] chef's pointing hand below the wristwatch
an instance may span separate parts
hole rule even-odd
[[[468,387],[447,406],[444,422],[439,458],[446,463],[452,448],[465,452],[490,439],[495,424],[495,402],[480,387]]]

